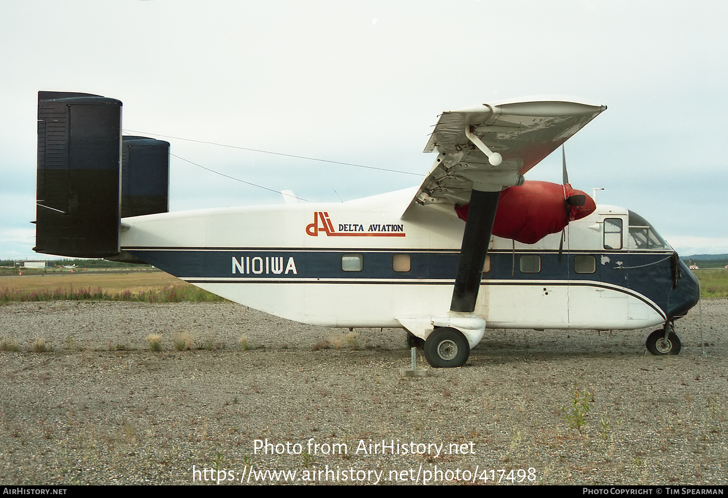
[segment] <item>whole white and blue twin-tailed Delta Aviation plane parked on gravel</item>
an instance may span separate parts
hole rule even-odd
[[[166,213],[167,185],[144,190],[145,178],[167,178],[169,144],[133,137],[119,161],[121,105],[39,93],[36,251],[145,261],[302,323],[403,328],[433,367],[464,365],[486,327],[661,325],[647,349],[680,350],[673,321],[695,306],[698,284],[652,225],[573,189],[565,159],[561,185],[523,178],[606,106],[526,100],[444,112],[424,149],[435,162],[413,189]]]

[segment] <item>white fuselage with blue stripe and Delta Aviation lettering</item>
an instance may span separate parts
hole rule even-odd
[[[121,245],[272,315],[331,327],[418,328],[417,320],[448,312],[464,222],[447,205],[416,205],[402,218],[413,194],[124,218],[130,228]],[[620,249],[605,248],[604,218],[622,220]],[[630,248],[627,227],[627,210],[602,205],[567,226],[561,254],[561,234],[533,245],[493,237],[475,313],[488,328],[664,323],[655,297],[662,291],[637,285],[649,274],[638,276],[631,266],[656,268],[672,250]],[[664,285],[663,277],[655,285]]]

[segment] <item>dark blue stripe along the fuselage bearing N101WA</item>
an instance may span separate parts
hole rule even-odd
[[[124,248],[143,261],[193,283],[360,283],[451,285],[458,250],[340,248]],[[361,255],[361,271],[341,269],[344,255]],[[410,270],[395,272],[397,254],[410,256]],[[521,272],[521,256],[540,257],[539,272]],[[593,273],[574,271],[574,258],[595,258]],[[491,251],[483,285],[590,285],[612,288],[669,308],[673,274],[670,253]],[[493,282],[491,282],[493,281]],[[601,282],[598,283],[598,282]],[[643,296],[646,299],[643,299]],[[650,304],[652,306],[652,304]]]

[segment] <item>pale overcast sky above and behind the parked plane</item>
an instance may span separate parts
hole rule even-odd
[[[598,202],[640,213],[681,254],[728,253],[727,18],[721,1],[4,1],[0,258],[38,257],[39,90],[122,100],[130,135],[418,175],[441,111],[574,95],[609,108],[566,143],[571,184],[604,187]],[[422,181],[166,140],[312,201]],[[527,179],[560,183],[560,169],[557,152]],[[171,210],[274,202],[171,160]]]

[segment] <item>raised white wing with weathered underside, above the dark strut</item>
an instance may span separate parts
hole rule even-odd
[[[415,202],[466,204],[473,185],[500,190],[517,184],[513,182],[522,181],[531,167],[605,109],[563,100],[526,100],[443,112],[424,148],[438,151],[438,157],[408,209]]]

